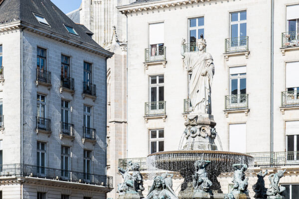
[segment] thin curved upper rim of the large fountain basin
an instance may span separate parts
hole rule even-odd
[[[148,155],[149,156],[154,156],[154,155],[161,155],[161,154],[170,154],[170,153],[175,153],[175,154],[180,154],[180,153],[212,153],[212,154],[229,154],[229,155],[243,155],[247,156],[250,158],[253,158],[253,156],[245,154],[245,153],[239,153],[239,152],[231,152],[231,151],[210,151],[210,150],[177,150],[177,151],[161,151],[161,152],[156,152],[156,153],[151,153]]]

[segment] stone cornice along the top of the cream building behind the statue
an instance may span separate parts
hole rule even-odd
[[[159,0],[118,6],[123,14],[210,2],[211,0]]]

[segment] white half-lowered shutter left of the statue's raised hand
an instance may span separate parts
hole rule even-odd
[[[164,23],[149,24],[149,45],[164,43]]]

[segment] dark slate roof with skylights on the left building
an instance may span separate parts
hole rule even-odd
[[[51,27],[40,24],[33,13],[43,16]],[[18,20],[104,50],[86,33],[86,27],[73,22],[51,0],[3,0],[0,4],[0,24]],[[70,34],[63,24],[74,28],[79,36]]]

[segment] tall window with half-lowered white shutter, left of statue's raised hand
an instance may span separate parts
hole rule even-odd
[[[164,23],[149,24],[150,56],[164,55]]]

